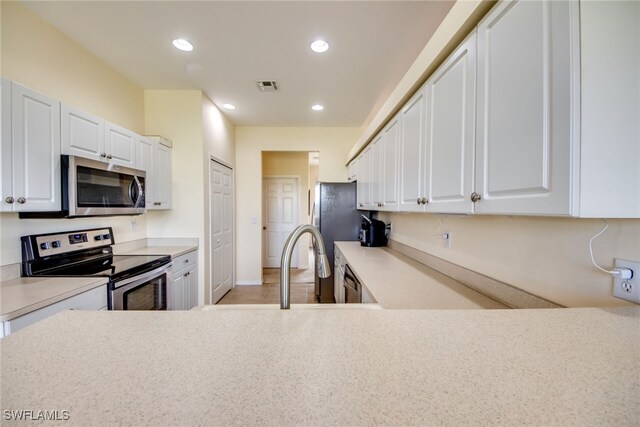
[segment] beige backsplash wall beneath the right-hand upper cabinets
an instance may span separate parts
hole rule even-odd
[[[568,307],[615,306],[613,280],[589,256],[589,239],[604,223],[598,219],[380,214],[392,223],[391,238],[431,255],[509,283]],[[613,258],[640,261],[640,220],[608,220],[593,242],[604,268]],[[444,247],[442,233],[451,235]]]

